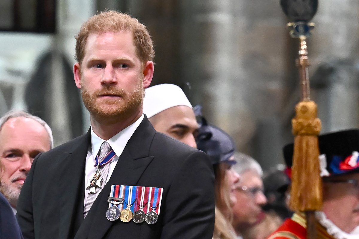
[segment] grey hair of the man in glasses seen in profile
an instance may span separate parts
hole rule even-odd
[[[249,170],[253,170],[260,177],[263,176],[263,170],[260,164],[251,156],[248,156],[244,153],[234,153],[233,155],[234,159],[237,161],[236,164],[232,166],[233,170],[236,171],[239,176],[241,176],[243,173]]]

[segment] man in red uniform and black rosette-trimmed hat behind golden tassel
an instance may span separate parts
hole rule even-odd
[[[344,130],[319,136],[320,175],[323,206],[316,212],[317,238],[359,238],[359,130]],[[292,166],[293,144],[283,149],[288,168]],[[356,231],[356,232],[355,232]],[[305,239],[306,219],[297,212],[270,239]]]

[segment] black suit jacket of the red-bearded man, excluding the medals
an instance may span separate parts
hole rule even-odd
[[[153,129],[145,117],[85,219],[84,169],[91,134],[37,156],[18,201],[25,239],[210,239],[214,174],[208,156]],[[162,187],[157,223],[106,218],[111,185]]]

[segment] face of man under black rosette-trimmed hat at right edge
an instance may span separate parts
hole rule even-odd
[[[324,181],[323,212],[346,233],[359,226],[359,173]]]

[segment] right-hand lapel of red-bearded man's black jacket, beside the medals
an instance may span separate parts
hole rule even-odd
[[[107,198],[111,191],[111,185],[137,184],[148,164],[154,158],[149,156],[150,144],[154,135],[155,130],[145,117],[126,144],[109,181],[103,187],[78,230],[76,239],[87,238],[83,235],[88,235],[89,239],[103,238],[108,229],[117,223],[106,218]]]

